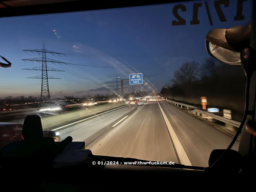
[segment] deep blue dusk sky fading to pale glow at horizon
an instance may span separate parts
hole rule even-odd
[[[239,21],[234,21],[236,1],[230,0],[228,7],[221,5],[227,22],[220,22],[214,1],[208,1],[213,26],[209,24],[204,2],[198,9],[200,24],[190,25],[193,3],[198,2],[182,3],[187,11],[179,11],[186,20],[186,25],[181,26],[172,26],[172,20],[176,20],[172,8],[180,3],[0,18],[0,55],[12,62],[12,67],[0,68],[0,98],[40,95],[41,79],[26,77],[41,75],[41,71],[21,68],[42,65],[22,61],[42,57],[22,50],[42,49],[43,41],[46,49],[67,54],[46,54],[47,58],[76,64],[47,63],[49,67],[65,70],[48,72],[61,78],[49,79],[52,98],[111,93],[115,85],[110,83],[112,79],[128,79],[129,73],[136,72],[143,73],[144,84],[135,85],[134,91],[146,83],[142,89],[160,91],[170,84],[181,64],[202,63],[210,57],[205,49],[205,36],[211,29],[245,25],[251,20],[252,1],[244,2],[245,17]],[[125,87],[129,87],[128,82]]]

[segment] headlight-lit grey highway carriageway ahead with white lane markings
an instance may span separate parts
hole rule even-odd
[[[213,149],[232,138],[168,102],[139,102],[53,129],[85,141],[94,155],[208,166]],[[233,149],[238,149],[236,141]]]

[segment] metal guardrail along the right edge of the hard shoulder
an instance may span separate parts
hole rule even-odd
[[[212,113],[210,113],[208,111],[203,111],[200,108],[192,106],[192,105],[187,105],[187,104],[184,104],[184,103],[180,103],[180,102],[176,102],[176,101],[168,100],[168,99],[163,99],[163,98],[162,98],[162,100],[165,100],[165,101],[167,101],[167,102],[169,102],[169,103],[171,103],[173,105],[176,105],[178,107],[181,107],[181,108],[186,107],[187,109],[189,109],[189,108],[194,109],[193,112],[196,115],[198,115],[198,116],[202,116],[202,114],[203,114],[204,116],[208,116],[210,118],[216,119],[218,121],[221,121],[221,122],[223,122],[225,124],[228,124],[228,125],[232,125],[234,127],[239,127],[240,124],[241,124],[240,122],[234,121],[232,119],[227,119],[225,117],[221,117],[221,116],[212,114]]]

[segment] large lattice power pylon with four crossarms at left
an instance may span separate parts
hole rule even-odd
[[[43,49],[31,49],[31,50],[22,50],[24,52],[37,52],[39,55],[42,53],[42,57],[38,57],[38,58],[31,58],[31,59],[22,59],[23,61],[37,61],[37,62],[42,62],[42,67],[32,67],[32,68],[23,68],[26,70],[37,70],[37,71],[42,71],[42,75],[38,75],[38,76],[32,76],[32,77],[27,77],[27,78],[32,78],[32,79],[42,79],[42,84],[41,84],[41,100],[42,100],[42,96],[43,95],[47,95],[47,98],[51,98],[50,96],[50,91],[49,91],[49,84],[48,84],[48,79],[61,79],[58,77],[54,77],[54,76],[48,76],[47,71],[63,71],[60,69],[55,69],[55,68],[51,68],[51,67],[47,67],[47,62],[51,62],[51,63],[63,63],[63,64],[68,64],[62,61],[58,61],[58,60],[54,60],[54,59],[49,59],[46,58],[46,53],[51,53],[53,54],[57,54],[57,55],[66,55],[64,53],[59,53],[59,52],[55,52],[55,51],[50,51],[45,49],[45,45],[43,44]]]

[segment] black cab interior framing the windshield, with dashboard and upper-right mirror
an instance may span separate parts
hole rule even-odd
[[[0,8],[1,17],[179,3],[180,1],[111,4],[110,2],[54,0],[51,3],[47,3],[48,1],[25,1],[28,4],[12,1],[10,5],[8,2],[0,2],[0,6],[4,7]],[[242,183],[243,180],[246,180],[247,184],[251,179],[255,182],[255,179],[250,177],[250,175],[255,175],[256,162],[255,1],[253,1],[253,6],[252,21],[247,26],[213,29],[208,35],[205,34],[206,51],[215,59],[228,64],[233,62],[228,58],[233,57],[233,52],[236,52],[239,57],[234,67],[242,67],[247,78],[242,123],[227,149],[212,151],[208,167],[182,164],[124,165],[124,162],[127,161],[148,161],[128,157],[95,156],[86,149],[86,143],[83,141],[72,142],[71,137],[63,138],[64,140],[61,142],[54,142],[53,138],[44,137],[40,117],[29,115],[25,118],[22,129],[24,140],[13,141],[1,149],[2,188],[7,187],[14,191],[146,191],[157,188],[158,191],[163,191],[165,189],[174,190],[173,186],[198,189],[204,188],[204,184],[207,184],[204,189],[208,191],[220,185],[236,187],[237,183]],[[223,49],[225,49],[224,53]],[[231,52],[229,53],[229,51]],[[14,64],[12,63],[12,65]],[[239,150],[232,150],[231,147],[240,133]],[[105,165],[104,162],[107,161],[118,161],[119,164]],[[100,164],[93,165],[92,162],[100,162]],[[229,183],[228,180],[232,180],[232,183]],[[180,186],[178,183],[183,184]],[[253,183],[251,185],[254,187]]]

